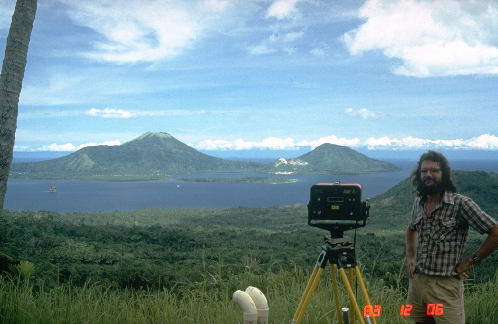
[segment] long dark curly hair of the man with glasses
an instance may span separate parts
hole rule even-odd
[[[444,193],[445,191],[450,191],[450,192],[456,192],[457,191],[457,186],[453,182],[453,176],[451,173],[451,167],[450,167],[450,162],[448,162],[448,159],[446,159],[441,153],[435,152],[435,151],[429,151],[427,153],[424,153],[420,156],[420,159],[418,160],[417,165],[413,169],[413,172],[411,172],[410,175],[410,180],[413,183],[413,186],[415,187],[415,190],[413,190],[413,193],[420,197],[422,201],[427,200],[426,195],[422,195],[422,189],[423,189],[423,182],[420,179],[420,167],[422,165],[422,162],[424,161],[433,161],[433,162],[438,162],[439,167],[441,168],[441,171],[443,172],[443,175],[441,177],[441,193]]]

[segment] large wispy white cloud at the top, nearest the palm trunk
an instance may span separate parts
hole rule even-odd
[[[225,23],[227,1],[60,0],[75,23],[102,37],[86,57],[116,62],[155,62],[175,57],[205,32]]]

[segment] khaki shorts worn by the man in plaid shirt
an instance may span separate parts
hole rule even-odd
[[[415,273],[410,279],[406,305],[409,319],[425,322],[429,315],[437,324],[465,324],[464,283],[456,277],[429,277]]]

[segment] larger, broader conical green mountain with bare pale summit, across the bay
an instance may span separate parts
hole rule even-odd
[[[14,177],[81,178],[97,175],[165,175],[255,171],[263,164],[203,154],[166,133],[146,133],[119,146],[83,148],[62,158],[12,164]]]

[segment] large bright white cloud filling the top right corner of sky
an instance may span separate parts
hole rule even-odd
[[[498,74],[498,3],[367,0],[365,19],[342,40],[353,55],[380,50],[401,59],[399,75]]]

